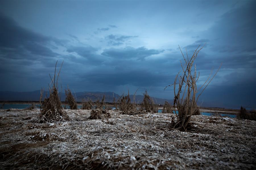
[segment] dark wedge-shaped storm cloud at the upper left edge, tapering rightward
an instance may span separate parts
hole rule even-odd
[[[6,16],[0,16],[0,55],[13,59],[40,59],[58,56],[51,48],[51,42],[61,44],[62,40],[47,37],[24,29]],[[41,57],[38,57],[41,56]]]

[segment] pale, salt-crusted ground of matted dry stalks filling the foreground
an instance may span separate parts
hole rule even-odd
[[[192,131],[169,127],[173,114],[37,123],[39,109],[0,111],[0,169],[255,169],[256,121],[192,116]],[[202,129],[203,128],[203,129]],[[201,129],[201,130],[200,130]]]

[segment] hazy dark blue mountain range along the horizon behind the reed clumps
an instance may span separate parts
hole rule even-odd
[[[115,101],[117,101],[121,96],[113,93],[113,92],[77,92],[73,93],[73,96],[76,98],[78,102],[83,100],[91,99],[92,101],[96,101],[98,98],[102,99],[103,95],[105,95],[105,102],[112,103],[115,97]],[[49,96],[49,92],[44,92],[43,99]],[[65,101],[65,92],[60,92],[61,101]],[[0,91],[0,101],[39,101],[40,98],[40,90],[36,90],[33,92],[11,92],[11,91]],[[131,101],[133,101],[133,95],[130,95]],[[135,95],[135,102],[141,103],[143,101],[143,95]],[[169,103],[173,103],[173,100],[169,99],[160,99],[152,96],[155,103],[163,105],[165,101]]]

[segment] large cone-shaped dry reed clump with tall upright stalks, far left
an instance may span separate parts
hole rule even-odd
[[[62,64],[61,64],[61,67],[62,67]],[[42,93],[43,93],[43,91],[41,90],[41,95],[40,95],[41,109],[40,109],[38,122],[54,122],[54,121],[70,120],[69,116],[61,106],[61,101],[58,93],[58,78],[59,78],[59,73],[61,71],[61,68],[59,69],[59,73],[57,75],[57,81],[55,84],[56,66],[57,66],[57,62],[55,64],[55,72],[54,72],[53,79],[50,76],[51,83],[53,84],[53,86],[49,88],[50,95],[48,98],[46,96],[43,102],[41,102]]]

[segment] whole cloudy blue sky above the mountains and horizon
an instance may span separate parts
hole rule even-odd
[[[256,108],[255,1],[1,1],[0,23],[0,91],[47,89],[58,60],[63,89],[173,99],[179,46],[206,43],[199,104]]]

